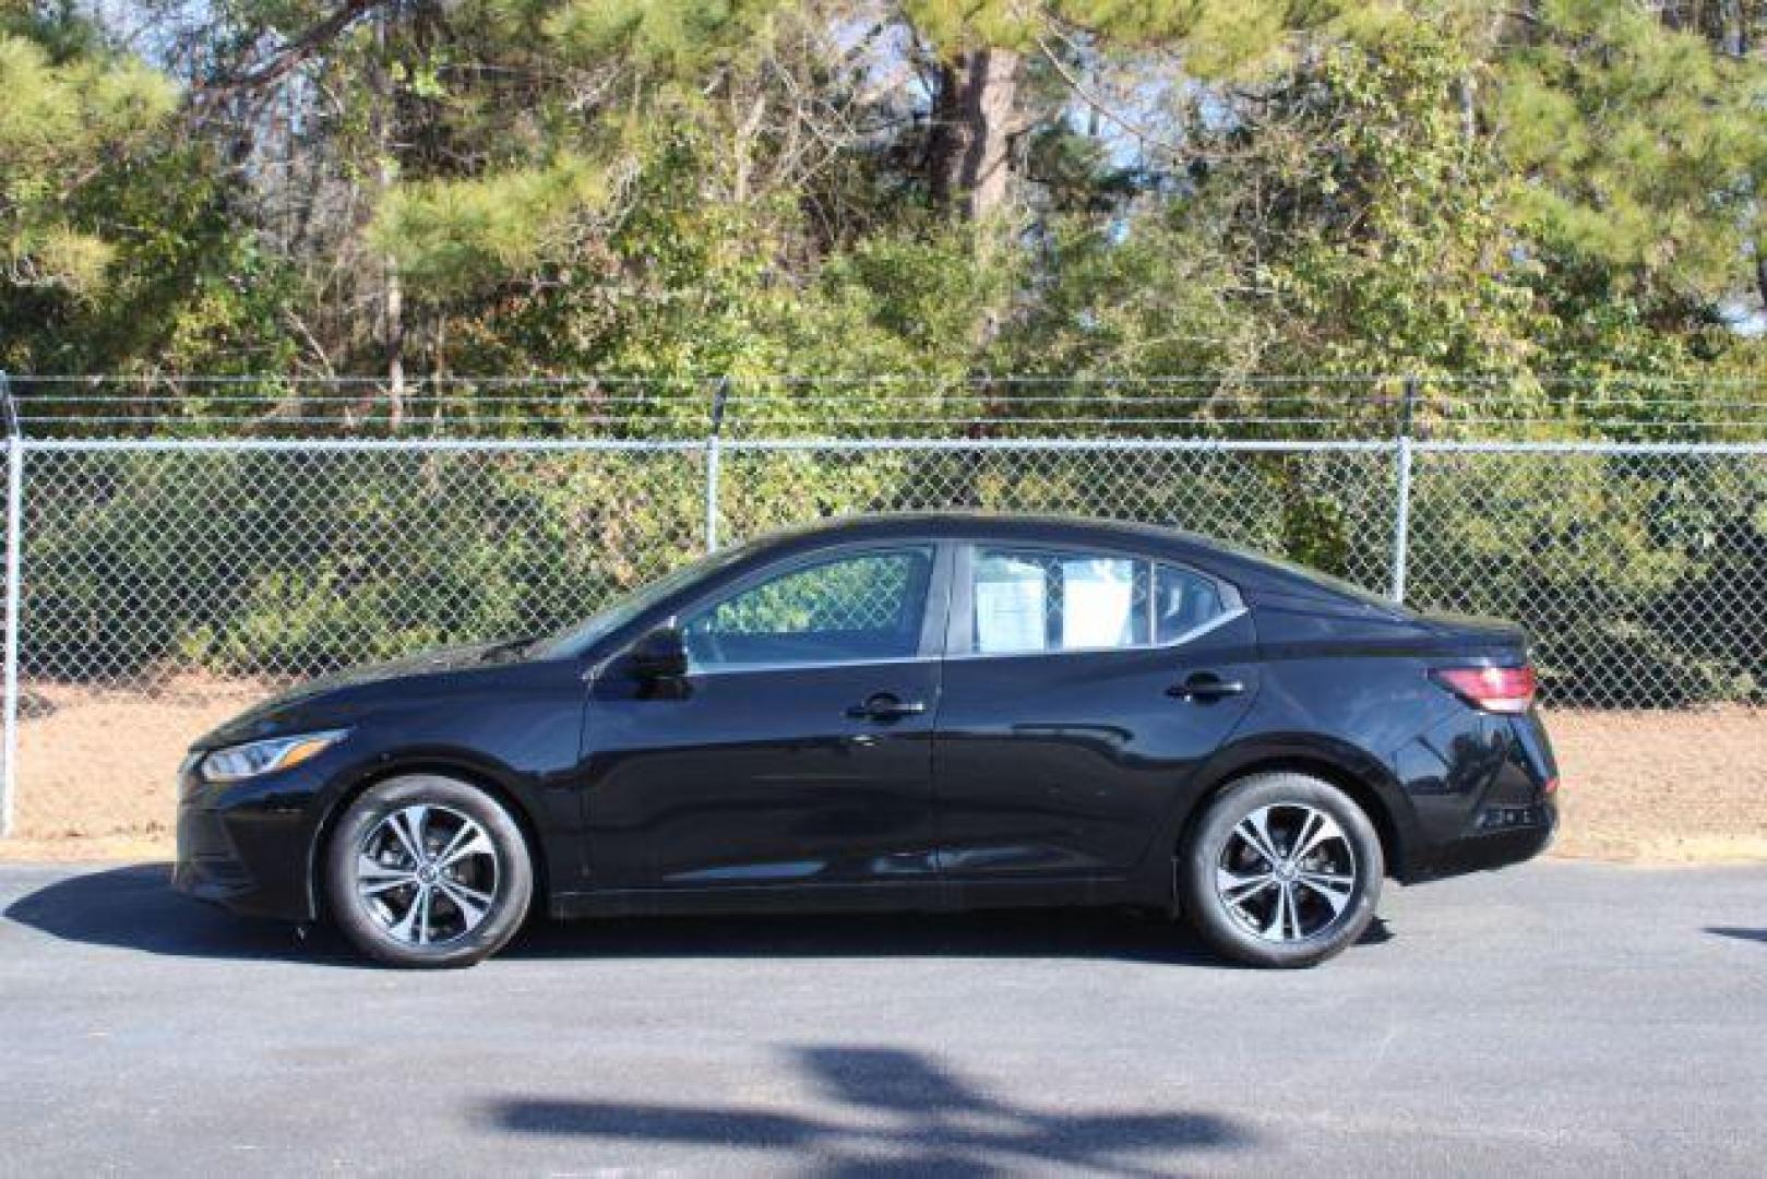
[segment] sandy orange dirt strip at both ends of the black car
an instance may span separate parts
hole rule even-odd
[[[269,691],[177,679],[154,691],[32,684],[19,726],[9,859],[171,852],[186,746]],[[1633,863],[1767,861],[1767,712],[1555,712],[1566,822],[1557,856]]]

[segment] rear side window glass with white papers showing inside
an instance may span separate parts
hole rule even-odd
[[[1115,553],[981,548],[970,567],[970,652],[1111,650],[1168,643],[1225,612],[1189,569]]]

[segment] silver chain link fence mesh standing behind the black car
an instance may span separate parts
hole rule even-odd
[[[1173,525],[1516,619],[1548,705],[1767,704],[1767,444],[14,435],[7,475],[25,799],[277,684],[546,633],[709,548],[882,511]]]

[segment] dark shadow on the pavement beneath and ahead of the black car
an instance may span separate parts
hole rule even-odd
[[[5,909],[5,919],[71,942],[182,958],[267,958],[368,967],[327,926],[240,917],[170,887],[168,864],[81,871]],[[1392,937],[1376,921],[1362,944]],[[1240,969],[1189,928],[1122,909],[974,914],[765,914],[530,921],[502,958],[1115,958]]]

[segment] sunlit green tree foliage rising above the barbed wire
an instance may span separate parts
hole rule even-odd
[[[1719,322],[1762,237],[1767,71],[1721,53],[1703,9],[376,11],[290,74],[329,106],[293,99],[286,168],[226,156],[274,120],[157,134],[200,78],[7,12],[14,368],[376,371],[392,276],[406,368],[454,371],[1760,366]],[[194,57],[325,14],[233,0]],[[926,209],[906,85],[982,46],[1023,58],[1016,194],[986,228]]]

